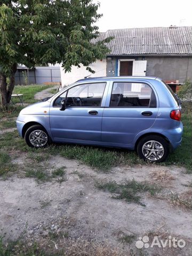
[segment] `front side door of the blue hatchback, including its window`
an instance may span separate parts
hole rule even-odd
[[[76,84],[51,102],[50,126],[54,141],[101,141],[106,84]],[[64,111],[60,110],[62,99],[66,99]]]

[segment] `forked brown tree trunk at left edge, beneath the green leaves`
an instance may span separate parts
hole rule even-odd
[[[5,74],[0,74],[2,105],[3,105],[3,108],[5,108],[6,110],[8,109],[9,103],[11,101],[11,95],[14,89],[14,82],[15,82],[14,75],[16,71],[17,71],[17,63],[14,63],[11,68],[10,82],[8,86],[6,83]]]

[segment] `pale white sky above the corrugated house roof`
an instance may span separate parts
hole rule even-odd
[[[108,29],[192,26],[192,0],[94,0],[100,2],[97,22]]]

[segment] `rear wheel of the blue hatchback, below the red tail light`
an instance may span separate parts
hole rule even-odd
[[[148,135],[139,141],[137,153],[145,161],[164,162],[169,155],[169,142],[161,136]]]

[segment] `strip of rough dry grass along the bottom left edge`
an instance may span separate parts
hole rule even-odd
[[[68,238],[67,233],[58,236],[51,236],[42,241],[35,241],[28,246],[31,241],[18,240],[3,244],[0,238],[1,256],[125,256],[123,251],[106,243],[97,243],[85,239],[73,240]],[[41,243],[42,242],[42,243]],[[126,256],[130,256],[130,252]]]

